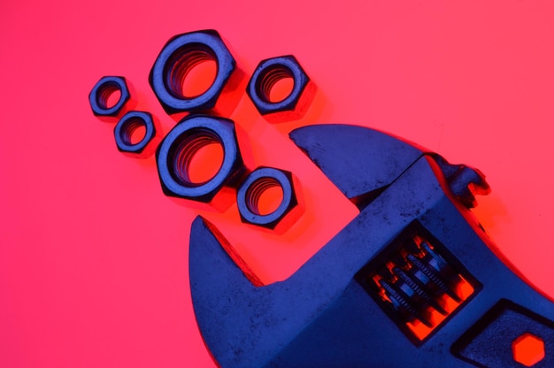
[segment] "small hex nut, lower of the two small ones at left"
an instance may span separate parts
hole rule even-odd
[[[139,128],[144,129],[144,134],[135,142],[133,134]],[[153,150],[147,149],[150,142],[156,136],[156,127],[152,115],[144,111],[129,111],[113,129],[115,143],[120,152],[135,155],[136,157],[148,157]]]

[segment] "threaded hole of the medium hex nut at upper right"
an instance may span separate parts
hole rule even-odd
[[[258,95],[266,103],[279,103],[290,96],[295,87],[292,71],[284,65],[275,65],[259,79]]]

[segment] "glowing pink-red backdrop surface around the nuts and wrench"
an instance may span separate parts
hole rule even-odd
[[[121,155],[88,106],[96,80],[124,75],[167,133],[150,67],[171,36],[205,28],[247,75],[294,54],[319,87],[295,123],[269,126],[246,96],[231,117],[256,165],[299,176],[308,207],[281,238],[240,226],[235,208],[203,212],[262,280],[286,278],[355,215],[286,138],[336,122],[480,168],[493,192],[475,212],[496,251],[554,297],[554,5],[482,3],[2,2],[0,365],[214,366],[189,294],[198,212],[162,194],[153,157]]]

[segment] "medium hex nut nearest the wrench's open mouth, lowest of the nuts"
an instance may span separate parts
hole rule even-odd
[[[281,203],[270,213],[263,213],[260,210],[260,196],[272,187],[281,188]],[[299,189],[292,173],[273,167],[258,167],[242,182],[237,192],[236,202],[242,222],[277,233],[284,232],[302,214]]]

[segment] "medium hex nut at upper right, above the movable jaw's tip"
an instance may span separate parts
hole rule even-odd
[[[294,86],[283,100],[272,102],[270,92],[275,83],[292,78]],[[310,107],[316,87],[292,55],[268,58],[259,63],[246,89],[259,113],[270,123],[301,119]]]

